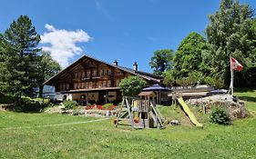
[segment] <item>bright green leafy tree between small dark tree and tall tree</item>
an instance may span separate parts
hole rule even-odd
[[[207,49],[205,38],[198,33],[190,33],[179,45],[175,54],[174,76],[188,77],[194,71],[206,72],[202,64],[202,51]]]

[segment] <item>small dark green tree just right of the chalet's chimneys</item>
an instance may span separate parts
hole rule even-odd
[[[172,65],[173,50],[161,49],[154,52],[149,65],[154,69],[155,75],[162,75]]]

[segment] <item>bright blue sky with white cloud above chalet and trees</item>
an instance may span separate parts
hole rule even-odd
[[[256,9],[254,0],[241,0]],[[43,35],[42,44],[68,65],[83,54],[152,72],[158,49],[176,50],[190,32],[204,35],[208,15],[219,0],[3,0],[0,32],[19,15],[28,15]]]

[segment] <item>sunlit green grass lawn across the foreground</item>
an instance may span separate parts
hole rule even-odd
[[[205,121],[203,129],[131,131],[116,129],[113,119],[0,112],[0,158],[256,158],[256,91],[236,95],[247,101],[251,117],[230,126]]]

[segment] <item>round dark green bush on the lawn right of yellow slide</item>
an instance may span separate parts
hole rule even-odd
[[[210,113],[210,122],[215,124],[231,124],[231,119],[225,109],[215,107]]]

